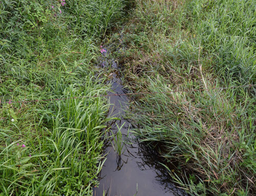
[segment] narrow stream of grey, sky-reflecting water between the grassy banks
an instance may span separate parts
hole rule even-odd
[[[106,52],[107,49],[105,49]],[[103,54],[104,55],[104,54]],[[105,57],[106,55],[104,55]],[[101,66],[111,66],[117,68],[114,60],[110,63],[103,60]],[[112,73],[112,91],[109,94],[127,93],[122,86],[122,81],[116,73]],[[98,176],[99,187],[94,188],[93,195],[117,195],[117,196],[157,196],[157,195],[186,195],[182,189],[177,188],[170,179],[167,169],[161,165],[161,157],[158,153],[145,145],[139,143],[136,138],[129,133],[129,129],[134,127],[129,120],[123,118],[125,110],[129,107],[127,96],[110,96],[111,108],[109,116],[117,117],[109,123],[113,133],[120,127],[122,140],[125,144],[124,152],[118,156],[111,142],[105,143],[104,154],[106,161]]]

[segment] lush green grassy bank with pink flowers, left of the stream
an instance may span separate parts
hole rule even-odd
[[[0,195],[86,195],[97,184],[108,100],[95,95],[109,87],[92,68],[124,6],[0,2]]]

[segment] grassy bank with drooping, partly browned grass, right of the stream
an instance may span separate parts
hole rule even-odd
[[[255,193],[255,2],[135,2],[124,77],[159,92],[134,97],[135,133],[191,195]]]

